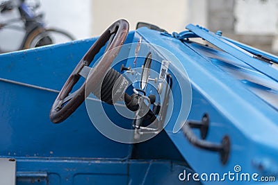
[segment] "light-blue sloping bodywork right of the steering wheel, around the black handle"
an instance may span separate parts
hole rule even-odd
[[[182,132],[172,133],[174,119],[177,118],[175,112],[179,110],[179,105],[175,106],[172,121],[165,130],[190,166],[194,166],[195,171],[223,174],[229,170],[233,171],[234,166],[239,164],[245,172],[259,173],[260,170],[253,164],[254,157],[250,157],[254,154],[275,161],[272,165],[273,168],[277,167],[277,157],[273,155],[277,153],[277,107],[255,95],[242,80],[246,77],[248,80],[258,80],[263,85],[264,82],[265,85],[271,84],[275,96],[273,101],[278,98],[275,91],[276,81],[229,53],[192,42],[181,42],[167,35],[163,35],[167,37],[164,39],[158,36],[159,33],[144,28],[138,30],[138,34],[144,37],[145,42],[167,48],[183,62],[193,87],[193,105],[188,119],[199,120],[204,112],[210,115],[211,127],[206,140],[220,143],[224,134],[231,138],[231,155],[228,163],[223,166],[218,153],[192,146]],[[269,68],[271,67],[265,69]],[[175,94],[175,90],[173,93],[178,102],[179,96]],[[277,176],[277,173],[272,175]]]

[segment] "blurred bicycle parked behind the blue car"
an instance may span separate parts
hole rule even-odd
[[[0,30],[3,28],[10,28],[25,31],[24,39],[17,50],[30,49],[38,46],[49,44],[57,44],[60,42],[69,42],[74,40],[74,37],[65,30],[57,28],[47,28],[42,21],[43,14],[36,14],[35,10],[40,7],[37,3],[35,6],[28,6],[24,0],[20,1],[19,6],[15,6],[13,1],[4,1],[0,4],[0,12],[8,12],[14,8],[18,8],[19,18],[9,19],[6,22],[0,23]],[[15,23],[22,21],[24,26],[17,26]],[[60,37],[57,37],[60,36]],[[61,40],[62,39],[62,40]],[[6,53],[0,49],[0,53]]]

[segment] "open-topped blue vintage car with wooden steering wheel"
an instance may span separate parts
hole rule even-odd
[[[0,55],[0,184],[277,184],[278,58],[125,20]]]

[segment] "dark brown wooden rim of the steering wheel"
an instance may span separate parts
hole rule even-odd
[[[49,118],[52,123],[65,121],[65,119],[68,118],[85,100],[86,81],[78,90],[72,93],[71,97],[69,95],[74,85],[81,78],[80,72],[82,69],[90,65],[92,60],[94,60],[95,55],[97,55],[100,49],[106,44],[106,42],[108,42],[108,46],[106,46],[107,52],[104,53],[99,63],[94,67],[93,73],[90,74],[90,79],[100,78],[100,76],[103,76],[103,73],[106,73],[109,67],[111,67],[112,62],[117,56],[117,53],[119,53],[122,44],[124,44],[128,33],[129,23],[124,19],[120,19],[109,26],[104,33],[101,34],[99,39],[92,44],[87,53],[85,53],[83,58],[76,65],[69,78],[67,78],[65,85],[63,85],[60,93],[54,101],[49,114]],[[97,80],[90,80],[90,88],[94,88],[96,86]],[[69,100],[64,102],[67,98]]]

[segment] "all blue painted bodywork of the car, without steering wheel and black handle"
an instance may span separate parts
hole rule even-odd
[[[229,136],[227,164],[220,162],[218,153],[193,146],[183,132],[173,133],[181,106],[181,90],[174,76],[173,114],[165,130],[150,141],[132,145],[107,139],[91,124],[84,105],[65,123],[51,124],[51,103],[97,39],[93,38],[0,55],[0,156],[17,159],[17,184],[219,184],[182,182],[179,175],[183,170],[224,174],[234,172],[236,165],[245,173],[277,177],[277,71],[247,51],[273,61],[277,57],[227,41],[220,32],[215,35],[193,25],[187,28],[189,31],[174,36],[139,28],[129,33],[126,43],[141,39],[167,49],[181,61],[193,91],[188,119],[209,114],[206,141],[220,143],[224,135]],[[222,51],[190,42],[197,36]],[[130,53],[134,51],[130,49]],[[163,60],[153,47],[140,49],[139,54],[149,51]],[[138,58],[134,64],[134,58],[129,58],[124,63],[140,67],[144,60]],[[158,73],[160,68],[159,62],[152,64]],[[147,95],[153,90],[147,89]],[[107,107],[107,111],[120,126],[131,126],[131,121],[115,116],[115,109]]]

